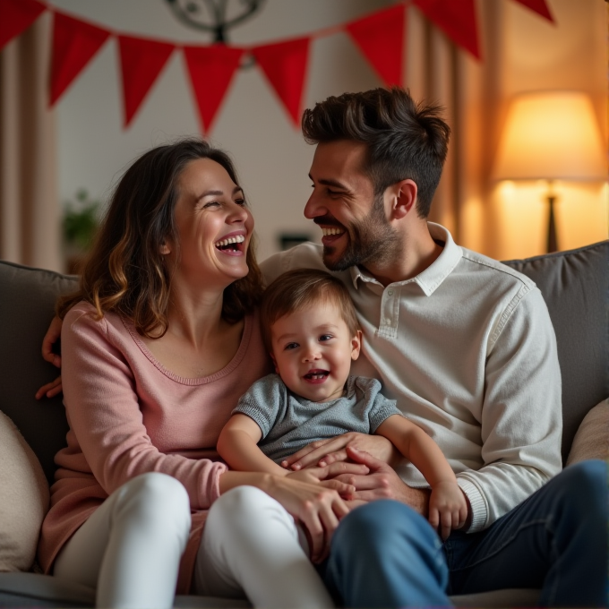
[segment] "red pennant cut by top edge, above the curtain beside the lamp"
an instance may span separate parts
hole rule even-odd
[[[459,47],[480,59],[475,0],[414,0],[429,19]]]

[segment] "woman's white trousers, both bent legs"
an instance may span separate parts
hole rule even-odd
[[[165,474],[137,476],[74,533],[54,574],[97,588],[99,607],[172,607],[190,523],[183,485]],[[245,595],[257,607],[333,606],[298,543],[294,519],[252,486],[235,488],[212,505],[193,592]]]

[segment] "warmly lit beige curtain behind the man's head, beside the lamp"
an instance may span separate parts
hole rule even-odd
[[[479,45],[482,61],[456,47],[416,7],[408,11],[407,87],[415,99],[439,102],[450,124],[449,155],[433,199],[430,219],[449,228],[466,247],[493,255],[493,211],[488,196],[493,151],[502,99],[502,3],[480,2]]]

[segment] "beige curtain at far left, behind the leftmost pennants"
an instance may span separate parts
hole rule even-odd
[[[0,52],[0,259],[63,270],[48,19]]]

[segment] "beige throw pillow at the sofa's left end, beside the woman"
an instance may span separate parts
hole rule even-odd
[[[0,412],[0,571],[30,570],[48,498],[34,451]]]

